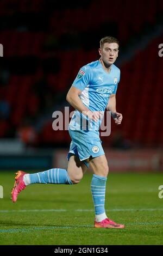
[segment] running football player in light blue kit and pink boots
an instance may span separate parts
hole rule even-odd
[[[79,70],[67,93],[67,101],[76,109],[69,124],[72,142],[67,154],[67,170],[53,168],[34,174],[18,171],[11,192],[13,202],[16,202],[18,193],[30,184],[78,184],[90,164],[93,172],[91,193],[96,215],[94,227],[124,228],[123,224],[111,221],[105,213],[105,187],[109,167],[99,138],[99,126],[105,108],[111,111],[117,125],[122,121],[122,114],[116,111],[120,69],[114,62],[118,57],[118,48],[119,42],[116,38],[102,38],[99,48],[101,57]]]

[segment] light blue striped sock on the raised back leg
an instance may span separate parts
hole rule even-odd
[[[24,183],[27,185],[35,183],[68,184],[73,185],[66,169],[53,168],[44,172],[24,175]]]

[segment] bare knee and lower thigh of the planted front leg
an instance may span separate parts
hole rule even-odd
[[[94,174],[104,177],[108,175],[109,167],[105,155],[93,157],[89,164]]]

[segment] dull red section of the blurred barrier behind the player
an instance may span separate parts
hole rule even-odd
[[[112,150],[105,148],[110,172],[161,172],[163,155],[158,150]],[[58,150],[54,154],[54,165],[67,168],[67,151]]]

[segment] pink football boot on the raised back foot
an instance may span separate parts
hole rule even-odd
[[[15,184],[14,187],[12,188],[12,202],[15,203],[17,200],[17,195],[20,193],[24,188],[26,187],[24,181],[23,181],[23,176],[27,173],[23,172],[22,170],[18,170],[16,177],[15,177]]]

